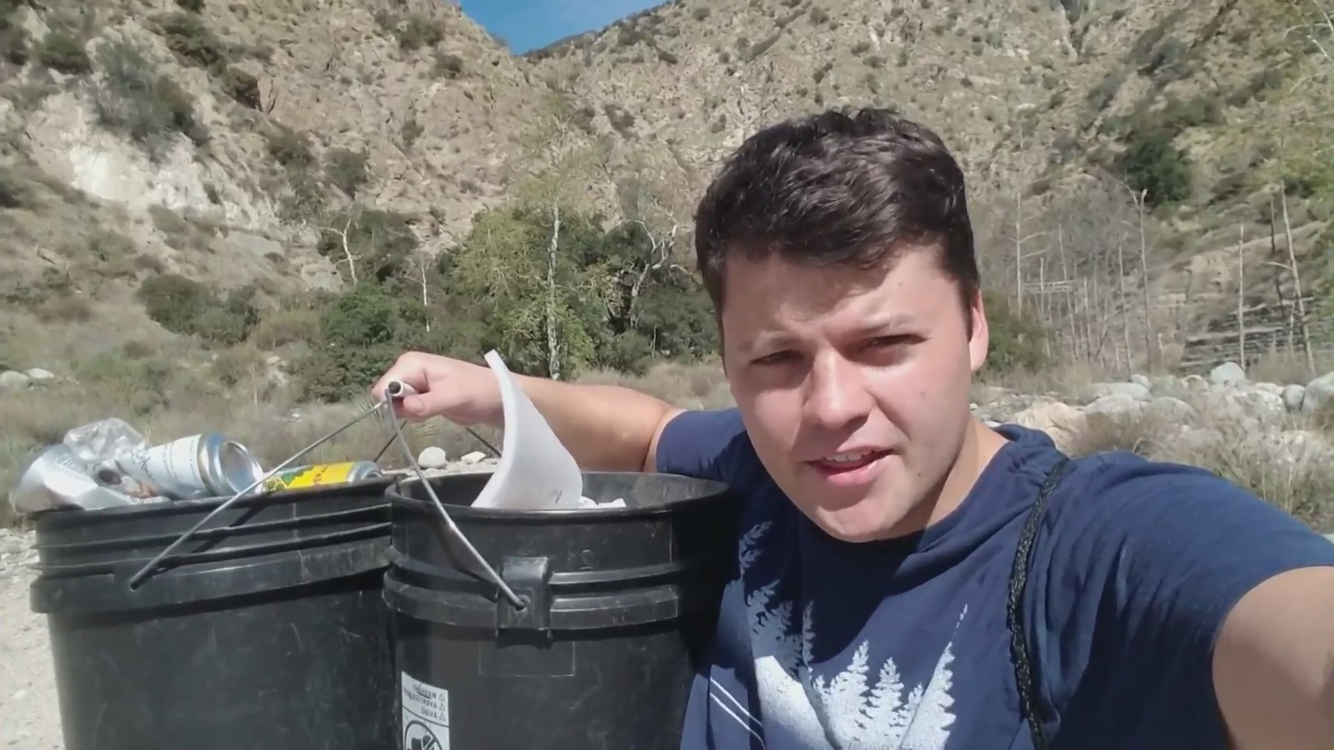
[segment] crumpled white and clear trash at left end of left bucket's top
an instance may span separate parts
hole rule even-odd
[[[88,464],[64,443],[41,451],[9,491],[9,504],[19,512],[64,507],[97,510],[160,500],[131,498],[99,484]]]

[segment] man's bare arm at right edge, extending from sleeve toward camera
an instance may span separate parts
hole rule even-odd
[[[1214,689],[1237,750],[1334,747],[1334,567],[1242,597],[1214,649]]]

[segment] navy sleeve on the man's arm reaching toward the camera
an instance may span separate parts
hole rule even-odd
[[[1062,746],[1226,747],[1213,679],[1225,619],[1274,575],[1334,566],[1334,544],[1207,471],[1090,460],[1043,531],[1033,610],[1046,613],[1035,646]]]

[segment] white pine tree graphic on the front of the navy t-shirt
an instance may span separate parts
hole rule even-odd
[[[728,598],[740,597],[742,581],[754,577],[768,530],[767,522],[759,523],[742,538],[742,575],[728,586]],[[826,679],[808,669],[814,661],[814,605],[806,605],[798,626],[794,603],[778,595],[776,579],[755,587],[744,603],[766,725],[782,726],[811,749],[944,749],[954,723],[951,646],[944,647],[926,685],[907,693],[892,658],[871,663],[868,641],[856,647],[846,669]]]

